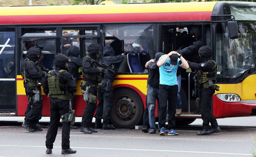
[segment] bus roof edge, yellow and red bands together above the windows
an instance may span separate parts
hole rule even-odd
[[[0,7],[0,24],[210,20],[216,3]]]

